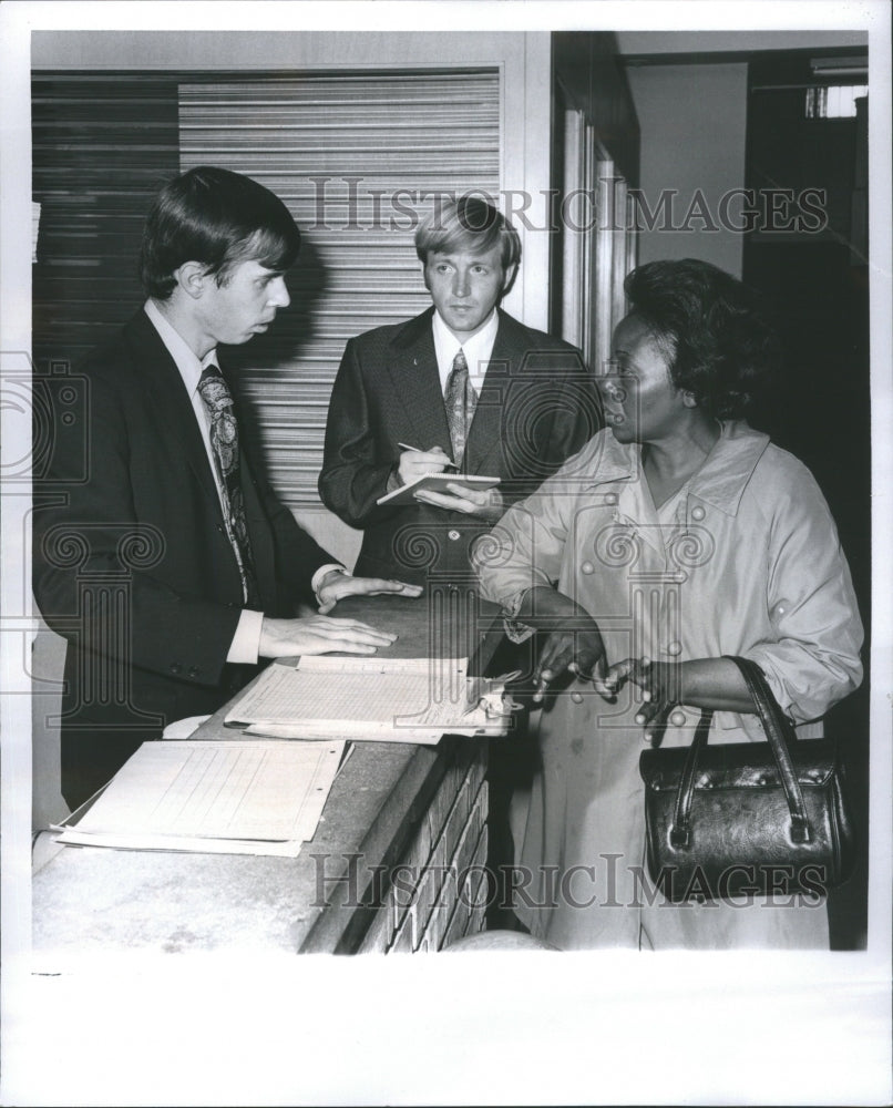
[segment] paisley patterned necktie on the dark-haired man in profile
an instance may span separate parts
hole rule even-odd
[[[219,369],[207,366],[198,380],[198,392],[211,413],[211,447],[217,474],[226,490],[229,511],[225,512],[226,531],[238,562],[244,598],[249,608],[260,608],[260,593],[245,523],[245,502],[239,484],[238,424],[233,411],[233,394]]]

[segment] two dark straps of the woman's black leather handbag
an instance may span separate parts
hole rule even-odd
[[[725,655],[725,657],[729,661],[733,661],[741,670],[741,676],[747,681],[747,687],[762,720],[763,730],[769,739],[769,746],[772,748],[772,755],[781,777],[781,788],[788,802],[788,811],[791,813],[791,840],[796,843],[811,842],[812,828],[809,825],[803,793],[800,789],[800,782],[797,780],[791,752],[788,748],[789,742],[796,741],[793,728],[779,708],[772,696],[772,690],[756,661],[751,661],[750,658],[737,658],[730,654]],[[695,771],[698,756],[707,743],[712,716],[712,711],[701,712],[698,729],[682,767],[673,827],[669,833],[670,843],[674,847],[685,848],[691,842],[691,800],[695,793]]]

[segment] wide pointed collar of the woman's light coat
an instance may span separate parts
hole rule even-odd
[[[766,448],[769,435],[755,431],[745,420],[721,421],[722,431],[702,468],[689,482],[688,495],[712,504],[727,515],[735,515],[745,489]],[[617,442],[609,430],[597,461],[598,472],[592,485],[630,480],[638,475],[641,448]]]

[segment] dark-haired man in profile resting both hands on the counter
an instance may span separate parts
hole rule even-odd
[[[144,229],[146,304],[82,368],[76,402],[54,413],[33,582],[47,623],[69,640],[72,806],[172,721],[219,708],[261,659],[393,642],[327,616],[342,597],[419,595],[346,573],[239,435],[237,381],[217,347],[247,342],[288,306],[284,276],[299,246],[286,206],[250,178],[213,166],[174,178]]]

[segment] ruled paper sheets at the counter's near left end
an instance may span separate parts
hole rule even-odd
[[[295,858],[316,833],[342,741],[144,742],[58,825],[59,842]]]

